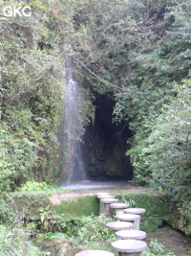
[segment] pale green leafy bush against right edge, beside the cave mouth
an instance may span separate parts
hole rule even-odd
[[[137,182],[147,182],[179,201],[181,230],[190,234],[191,80],[175,83],[174,92],[177,96],[163,106],[150,135],[128,154],[133,157]]]

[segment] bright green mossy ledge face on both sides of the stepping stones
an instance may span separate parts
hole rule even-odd
[[[119,201],[131,201],[135,207],[145,208],[142,215],[140,229],[153,232],[159,229],[163,221],[170,219],[170,198],[163,194],[125,193],[115,194]],[[99,214],[99,201],[96,196],[78,198],[76,201],[64,202],[55,207],[57,214],[64,214],[65,221],[80,220],[82,216]]]

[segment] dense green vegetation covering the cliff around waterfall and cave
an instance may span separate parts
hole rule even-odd
[[[59,177],[70,57],[83,84],[81,132],[96,95],[112,98],[114,122],[126,121],[133,133],[127,154],[135,182],[169,193],[190,234],[190,1],[11,0],[1,1],[1,10],[8,3],[28,5],[32,15],[0,16],[1,195],[28,180]]]

